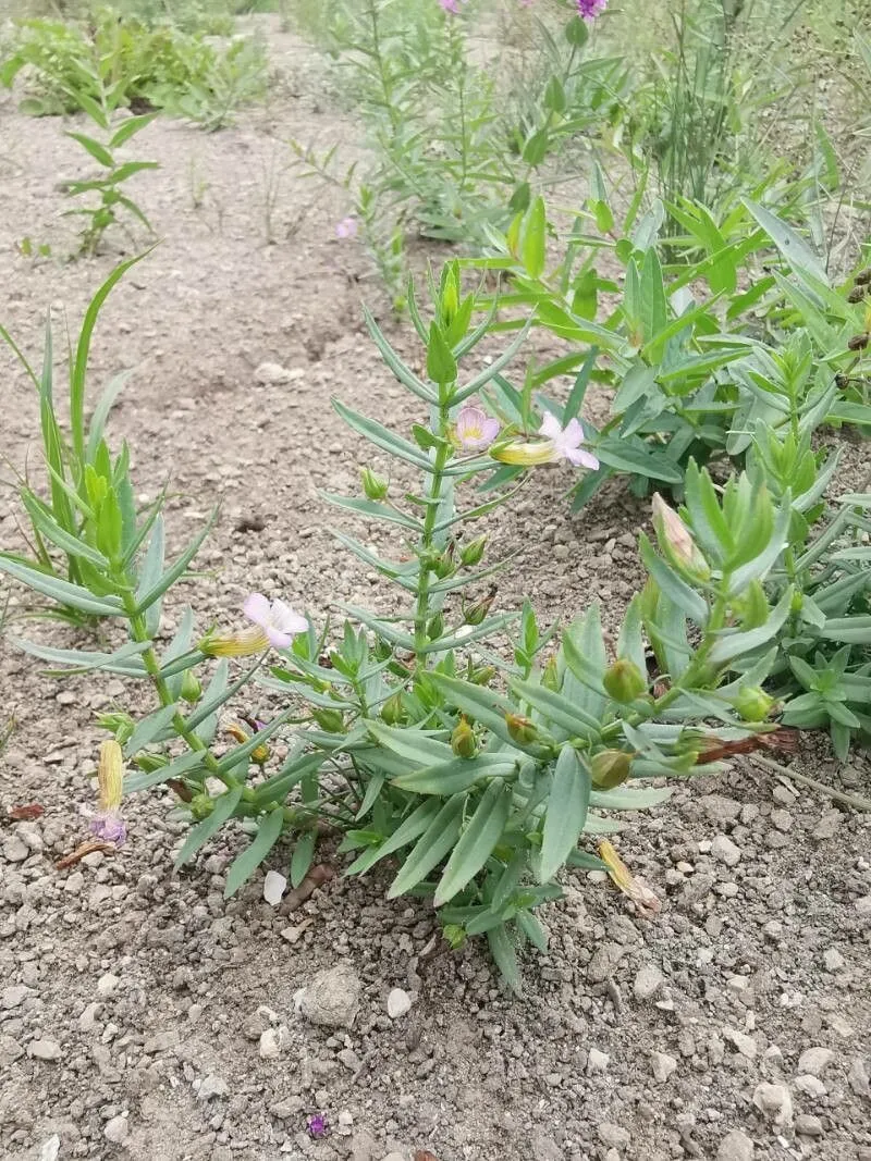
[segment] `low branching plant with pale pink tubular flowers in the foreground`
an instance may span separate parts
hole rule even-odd
[[[454,946],[485,933],[518,989],[517,951],[526,942],[546,946],[534,909],[560,896],[561,868],[613,865],[592,853],[590,836],[619,829],[616,814],[668,796],[643,780],[719,770],[748,734],[777,729],[766,721],[770,699],[757,688],[766,658],[743,666],[740,679],[728,675],[771,641],[791,606],[789,586],[775,608],[761,586],[790,519],[789,495],[776,506],[742,477],[724,512],[710,478],[696,474],[688,505],[706,513],[719,538],[717,571],[657,499],[658,551],[642,538],[649,579],[629,604],[613,655],[596,606],[554,650],[553,630],[539,626],[528,603],[518,613],[491,607],[492,578],[505,562],[484,563],[477,527],[513,490],[467,502],[463,485],[499,470],[499,462],[564,461],[577,469],[595,468],[595,457],[581,425],[553,413],[535,431],[499,430],[476,399],[518,341],[483,372],[462,374],[487,324],[472,330],[475,296],[462,296],[455,265],[431,291],[429,322],[411,301],[425,378],[368,318],[387,365],[420,405],[411,439],[334,402],[355,433],[396,462],[397,475],[411,470],[420,481],[409,489],[363,468],[361,496],[326,496],[396,529],[393,558],[338,534],[367,570],[395,586],[394,615],[344,606],[344,628],[330,634],[324,614],[303,618],[281,599],[252,593],[231,632],[197,632],[196,613],[186,608],[166,644],[164,600],[209,525],[167,564],[163,515],[150,517],[144,531],[118,505],[99,556],[82,541],[89,568],[63,593],[84,611],[99,605],[125,628],[127,642],[111,654],[23,644],[53,666],[102,669],[151,686],[151,713],[101,719],[114,740],[101,750],[98,836],[123,841],[122,788],[170,789],[193,824],[178,865],[231,820],[249,834],[228,871],[232,895],[267,858],[289,861],[291,882],[301,882],[322,836],[338,830],[339,852],[354,853],[347,874],[390,859],[388,895],[431,899]],[[94,482],[105,496],[113,486],[108,469]],[[53,594],[38,569],[10,569],[5,558],[0,568]],[[655,651],[653,671],[645,637]],[[511,648],[498,649],[505,640]],[[246,719],[231,722],[237,742],[228,748],[218,741],[228,726],[218,729],[221,716],[235,699],[252,711],[258,685],[268,688],[269,704],[278,692],[287,706],[268,720],[254,709],[246,728]],[[280,735],[288,735],[288,749],[278,758]]]

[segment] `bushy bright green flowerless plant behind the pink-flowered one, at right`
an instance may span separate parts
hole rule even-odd
[[[501,253],[470,262],[505,272],[510,293],[499,304],[534,311],[535,324],[567,344],[564,353],[530,369],[521,392],[494,380],[490,402],[506,421],[530,430],[538,399],[566,424],[580,414],[591,382],[614,388],[607,420],[588,425],[600,467],[573,489],[576,507],[617,473],[629,475],[638,495],[655,486],[679,497],[691,459],[741,467],[763,423],[779,432],[871,420],[868,404],[855,401],[865,391],[864,347],[856,349],[865,308],[856,294],[829,286],[796,231],[746,199],[727,239],[694,205],[684,217],[698,230],[701,253],[668,265],[660,257],[668,211],[657,202],[641,215],[640,205],[636,196],[618,228],[593,170],[590,197],[550,269],[547,240],[556,230],[541,199],[517,215],[504,238],[494,235]],[[603,250],[622,265],[621,283],[598,273]],[[761,254],[766,272],[754,277]],[[491,324],[519,325],[511,318]],[[539,394],[575,372],[564,402]]]

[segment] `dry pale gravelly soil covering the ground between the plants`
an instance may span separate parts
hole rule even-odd
[[[332,546],[337,517],[315,492],[353,489],[361,450],[327,399],[404,431],[412,419],[361,331],[362,297],[391,324],[365,255],[333,237],[346,207],[283,174],[278,241],[265,243],[280,138],[353,146],[358,134],[318,107],[318,66],[302,46],[276,36],[273,48],[266,110],[214,136],[161,120],[138,138],[138,154],[163,166],[138,192],[164,241],[115,291],[93,358],[92,390],[134,368],[111,435],[131,441],[143,495],[172,477],[173,547],[222,502],[200,557],[206,576],[183,593],[201,627],[232,623],[252,589],[318,618],[339,599],[377,601],[374,577]],[[8,100],[0,142],[2,322],[38,358],[45,309],[64,304],[78,320],[118,253],[20,257],[26,235],[69,250],[57,183],[80,159],[60,124],[21,117]],[[408,327],[391,334],[413,355]],[[2,452],[21,466],[29,448],[36,466],[33,391],[2,360]],[[287,381],[258,382],[264,362]],[[845,448],[840,488],[862,457]],[[614,622],[638,578],[646,506],[614,486],[573,517],[568,481],[538,474],[497,519],[495,547],[517,550],[498,599],[511,607],[528,591],[553,618],[597,598]],[[5,547],[19,543],[9,499]],[[239,531],[244,518],[262,531]],[[42,623],[27,632],[75,640]],[[123,686],[58,684],[7,642],[0,691],[2,717],[17,719],[0,759],[2,813],[45,807],[0,832],[3,1158],[871,1159],[868,816],[751,766],[678,787],[619,841],[662,913],[646,920],[610,887],[566,875],[566,900],[544,914],[550,950],[528,958],[518,1000],[478,946],[422,959],[433,916],[386,903],[383,878],[336,878],[293,914],[264,903],[261,875],[224,902],[243,842],[233,831],[173,874],[183,828],[168,795],[130,801],[115,857],[56,870],[94,801],[94,713],[123,701]],[[833,786],[871,791],[866,759],[841,769],[822,738],[796,760]],[[269,865],[286,870],[280,854]],[[361,988],[353,1026],[296,1014],[297,989],[341,966],[346,998]],[[413,1001],[396,1019],[393,988]],[[278,1055],[261,1053],[269,1043]],[[318,1110],[330,1134],[315,1141],[305,1126]]]

